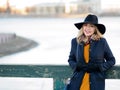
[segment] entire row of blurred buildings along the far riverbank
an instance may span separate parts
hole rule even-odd
[[[119,2],[119,0],[117,0]],[[106,1],[107,2],[107,1]],[[97,15],[120,15],[120,4],[107,2],[104,7],[102,0],[61,0],[59,2],[39,3],[30,7],[16,8],[9,0],[0,7],[0,14],[29,16],[65,16],[95,13]]]

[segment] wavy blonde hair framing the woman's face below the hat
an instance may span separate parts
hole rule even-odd
[[[95,26],[95,25],[94,25]],[[94,34],[91,36],[91,39],[92,40],[99,40],[100,38],[102,38],[103,35],[100,33],[100,31],[98,30],[98,28],[95,26],[95,32]],[[84,42],[86,43],[88,41],[88,37],[86,37],[83,33],[83,28],[81,28],[79,31],[78,31],[78,35],[77,35],[77,42],[78,43],[81,43],[81,42]]]

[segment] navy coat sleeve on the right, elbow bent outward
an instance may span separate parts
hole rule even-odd
[[[104,58],[105,62],[101,64],[101,71],[106,71],[115,64],[115,57],[113,56],[106,39],[104,39]]]

